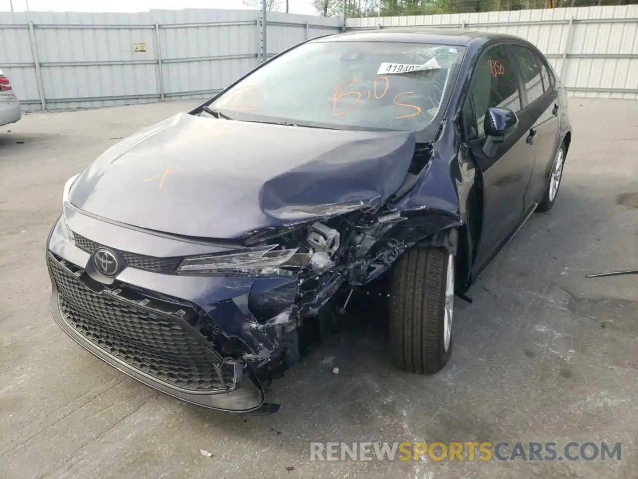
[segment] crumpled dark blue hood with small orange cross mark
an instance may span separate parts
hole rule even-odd
[[[376,206],[403,182],[409,132],[355,132],[181,113],[100,155],[69,201],[156,231],[237,238],[263,227]]]

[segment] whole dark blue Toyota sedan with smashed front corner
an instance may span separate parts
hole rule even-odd
[[[436,373],[455,296],[552,208],[571,135],[560,80],[520,38],[301,43],[68,180],[52,314],[161,392],[271,413],[265,384],[376,288],[396,367]]]

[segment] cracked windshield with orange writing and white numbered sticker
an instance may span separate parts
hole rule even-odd
[[[464,49],[424,43],[300,45],[211,108],[237,120],[420,131],[445,102]]]

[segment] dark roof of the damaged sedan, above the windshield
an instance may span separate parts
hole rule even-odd
[[[475,42],[473,42],[475,40]],[[488,43],[494,40],[523,40],[517,36],[468,29],[427,27],[383,27],[322,36],[311,42],[405,42],[431,43],[463,47],[468,43]]]

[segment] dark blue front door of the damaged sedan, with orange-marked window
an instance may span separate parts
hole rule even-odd
[[[519,79],[502,44],[488,47],[479,57],[463,110],[467,146],[483,176],[483,224],[473,271],[493,257],[523,217],[525,191],[535,162],[529,125],[520,121],[492,155],[483,151],[487,140],[484,120],[491,107],[516,114],[522,109]]]

